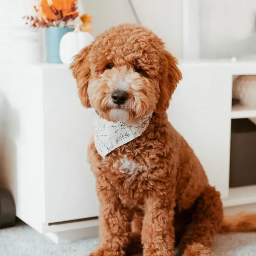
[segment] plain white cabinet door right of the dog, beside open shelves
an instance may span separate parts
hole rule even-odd
[[[229,191],[232,75],[228,67],[181,66],[168,118],[194,149],[222,197]]]

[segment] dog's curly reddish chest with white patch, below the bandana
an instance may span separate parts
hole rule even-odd
[[[154,154],[155,147],[158,149],[157,155]],[[158,141],[149,140],[147,144],[143,137],[138,137],[137,140],[109,153],[104,159],[99,159],[94,144],[94,150],[88,150],[88,154],[95,154],[97,159],[91,161],[91,164],[98,182],[103,187],[106,187],[107,183],[109,188],[113,188],[124,206],[141,208],[146,195],[154,189],[154,182],[150,180],[152,177],[157,179],[157,174],[162,175],[157,170],[163,165],[159,150],[163,147]]]

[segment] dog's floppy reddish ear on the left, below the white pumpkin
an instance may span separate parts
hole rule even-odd
[[[79,54],[75,55],[74,61],[70,65],[73,76],[76,79],[78,87],[78,95],[84,107],[90,108],[89,96],[87,93],[88,83],[90,79],[90,62],[89,52],[92,46],[83,48]]]

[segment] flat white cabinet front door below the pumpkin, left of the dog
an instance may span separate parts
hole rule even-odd
[[[93,109],[84,108],[67,67],[43,67],[45,222],[99,215],[95,178],[87,163]]]

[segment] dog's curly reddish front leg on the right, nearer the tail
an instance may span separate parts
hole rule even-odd
[[[146,199],[141,234],[143,256],[175,255],[174,198],[174,192],[159,188],[159,191],[153,191]]]

